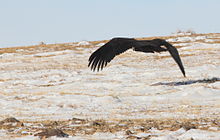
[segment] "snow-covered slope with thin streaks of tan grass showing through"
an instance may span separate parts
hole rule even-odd
[[[206,34],[167,39],[178,47],[186,78],[168,52],[146,54],[130,50],[117,56],[101,72],[92,72],[87,67],[88,57],[99,46],[88,42],[66,48],[60,46],[62,49],[59,50],[53,46],[31,50],[26,47],[2,53],[0,120],[15,117],[26,122],[24,125],[28,125],[28,121],[72,118],[109,122],[209,120],[215,121],[216,125],[207,124],[206,129],[198,126],[189,130],[181,127],[176,130],[151,128],[127,135],[124,130],[96,132],[70,135],[69,139],[126,139],[128,135],[134,135],[153,140],[219,140],[219,38],[220,34]],[[132,127],[139,126],[134,124]],[[36,138],[22,134],[22,137],[15,138]],[[7,129],[0,131],[0,137],[9,138],[10,135],[11,131]]]

